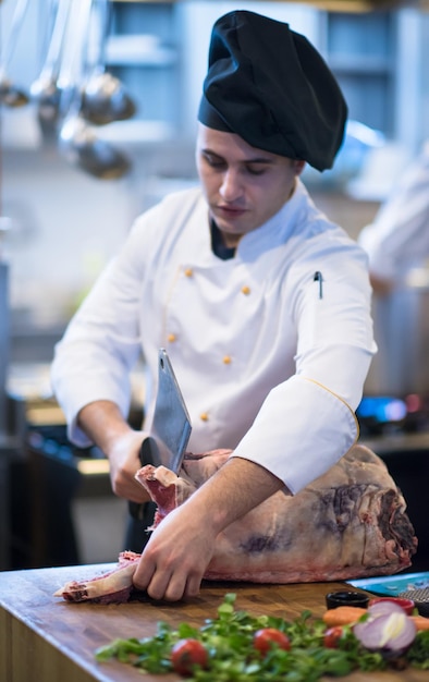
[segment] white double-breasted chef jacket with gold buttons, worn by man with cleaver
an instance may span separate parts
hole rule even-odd
[[[376,351],[369,309],[365,252],[301,181],[228,260],[212,253],[200,190],[174,193],[136,220],[56,348],[69,436],[88,444],[76,415],[89,402],[111,400],[127,415],[140,352],[150,428],[167,348],[193,425],[188,450],[234,449],[296,492],[357,437]]]

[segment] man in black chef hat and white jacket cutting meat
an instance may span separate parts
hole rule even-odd
[[[376,351],[367,257],[299,180],[305,162],[331,168],[346,113],[304,36],[253,12],[221,16],[198,112],[200,186],[136,220],[57,345],[69,436],[101,448],[118,496],[147,499],[134,474],[160,348],[189,411],[188,451],[233,449],[151,534],[135,586],[154,598],[196,595],[222,528],[279,489],[296,494],[358,437]],[[133,430],[140,353],[146,418]]]

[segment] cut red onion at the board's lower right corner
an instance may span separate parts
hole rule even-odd
[[[375,604],[368,608],[368,617],[353,629],[365,648],[380,651],[385,657],[401,656],[414,642],[416,625],[396,604]]]

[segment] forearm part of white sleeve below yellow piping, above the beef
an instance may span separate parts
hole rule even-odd
[[[369,366],[365,354],[348,358],[357,360],[363,372]],[[326,386],[294,375],[270,391],[232,456],[262,464],[296,494],[333,466],[357,436],[357,421],[347,403]]]

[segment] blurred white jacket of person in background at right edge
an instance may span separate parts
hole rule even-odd
[[[429,141],[358,242],[368,253],[370,271],[396,284],[429,257]]]

